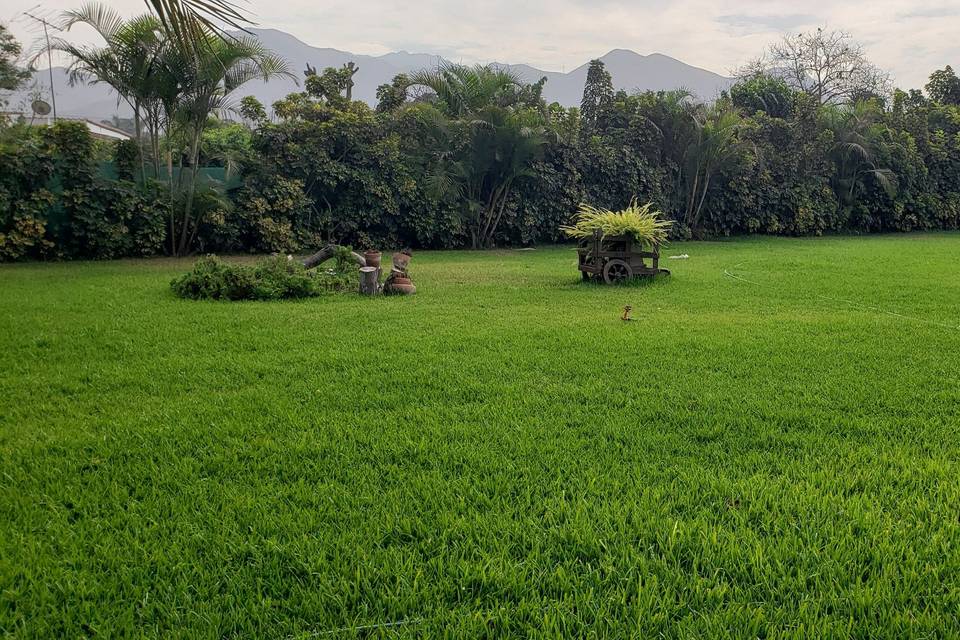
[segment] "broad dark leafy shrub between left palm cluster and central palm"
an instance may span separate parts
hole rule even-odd
[[[297,250],[324,238],[396,245],[410,237],[427,244],[445,231],[433,222],[437,203],[423,198],[412,173],[422,166],[424,136],[404,110],[387,117],[362,102],[309,94],[276,107],[280,120],[254,136],[259,162],[246,172],[236,208],[247,246]]]

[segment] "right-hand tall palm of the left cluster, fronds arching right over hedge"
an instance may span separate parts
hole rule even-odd
[[[193,216],[196,194],[200,140],[208,118],[223,111],[233,110],[233,92],[251,80],[269,80],[277,75],[292,77],[287,62],[267,50],[255,38],[221,38],[207,35],[199,48],[171,46],[163,64],[175,74],[179,92],[167,96],[172,124],[184,134],[187,142],[189,180],[181,189],[183,212],[179,223],[172,224],[171,247],[182,255],[189,252],[196,239],[200,221]],[[180,184],[183,182],[181,172]],[[179,236],[179,239],[176,239]]]

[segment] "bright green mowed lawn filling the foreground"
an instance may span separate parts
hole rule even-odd
[[[960,235],[668,253],[277,303],[0,267],[0,633],[960,635]]]

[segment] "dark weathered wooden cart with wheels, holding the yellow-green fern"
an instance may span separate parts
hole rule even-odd
[[[644,251],[632,236],[602,236],[599,232],[580,241],[578,269],[584,280],[603,278],[607,284],[626,282],[637,276],[670,275],[660,268],[660,247]],[[649,260],[649,262],[647,262]]]

